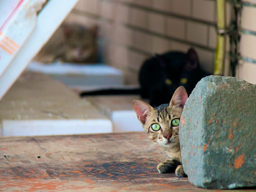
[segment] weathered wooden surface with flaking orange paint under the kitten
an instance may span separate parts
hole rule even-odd
[[[159,174],[165,155],[148,150],[144,132],[0,141],[0,191],[208,191],[173,173]]]

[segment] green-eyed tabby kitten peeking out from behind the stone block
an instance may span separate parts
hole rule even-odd
[[[162,104],[156,108],[141,100],[132,100],[133,109],[149,139],[161,146],[169,158],[159,163],[159,173],[175,171],[178,177],[186,176],[179,141],[180,117],[186,100],[187,92],[182,86],[176,89],[169,104]]]

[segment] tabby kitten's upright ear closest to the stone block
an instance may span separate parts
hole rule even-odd
[[[186,89],[180,86],[174,92],[169,106],[180,106],[183,108],[186,103],[186,100],[187,100]]]

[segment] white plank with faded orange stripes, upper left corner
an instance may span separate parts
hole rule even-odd
[[[36,26],[37,11],[41,9],[45,0],[20,1],[14,8],[11,18],[1,26],[0,32],[0,76],[10,65],[11,60],[21,49],[26,39]],[[0,1],[0,6],[6,6],[8,0]],[[10,18],[10,20],[8,20]]]

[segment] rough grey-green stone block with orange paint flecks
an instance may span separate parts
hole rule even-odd
[[[193,185],[256,186],[256,85],[233,77],[203,78],[186,101],[179,137]]]

